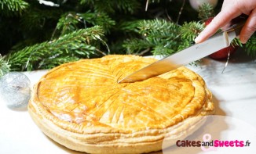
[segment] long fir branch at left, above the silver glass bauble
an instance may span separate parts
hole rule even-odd
[[[97,56],[97,45],[102,41],[101,27],[75,30],[53,41],[45,41],[11,52],[5,57],[11,70],[49,69],[80,58]],[[70,58],[68,58],[70,57]]]

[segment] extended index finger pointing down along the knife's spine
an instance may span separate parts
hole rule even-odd
[[[200,43],[207,40],[207,38],[210,38],[210,36],[215,34],[221,27],[224,27],[225,24],[229,23],[233,18],[240,16],[240,14],[240,11],[234,11],[234,9],[229,9],[229,7],[221,10],[221,12],[214,17],[214,20],[199,34],[195,42]]]

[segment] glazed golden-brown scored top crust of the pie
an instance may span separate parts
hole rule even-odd
[[[153,62],[105,56],[57,66],[35,85],[31,101],[53,124],[79,134],[163,129],[214,110],[202,78],[185,67],[146,81],[117,83]]]

